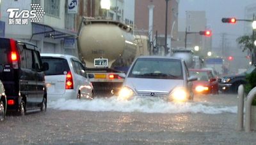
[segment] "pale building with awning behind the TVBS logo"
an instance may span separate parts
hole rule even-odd
[[[44,15],[27,24],[10,24],[8,8],[31,11],[31,4],[39,4]],[[67,53],[77,56],[76,13],[68,13],[68,0],[1,1],[1,21],[5,22],[4,36],[23,39],[38,46],[42,53]],[[20,19],[16,18],[16,19]]]

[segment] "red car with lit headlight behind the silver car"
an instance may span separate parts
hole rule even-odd
[[[218,94],[218,78],[212,74],[211,70],[189,69],[189,74],[198,78],[196,81],[193,81],[194,93]]]

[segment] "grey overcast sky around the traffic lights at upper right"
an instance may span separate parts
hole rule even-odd
[[[186,18],[186,11],[205,11],[207,25],[212,29],[213,47],[220,46],[221,33],[228,34],[232,46],[236,46],[236,38],[244,33],[244,22],[235,25],[221,22],[223,17],[244,18],[244,8],[256,4],[256,0],[180,0],[179,18]],[[179,30],[185,25],[179,24]]]

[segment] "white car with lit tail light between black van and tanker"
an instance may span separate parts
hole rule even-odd
[[[93,85],[77,57],[63,54],[42,53],[42,61],[49,64],[45,71],[48,98],[93,99]]]

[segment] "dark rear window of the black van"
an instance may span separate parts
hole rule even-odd
[[[0,38],[0,64],[8,64],[8,52],[10,51],[10,39]]]

